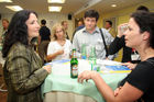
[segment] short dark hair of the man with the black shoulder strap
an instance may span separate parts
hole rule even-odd
[[[96,18],[96,21],[99,19],[99,13],[96,10],[88,10],[85,12],[85,19],[86,18]]]

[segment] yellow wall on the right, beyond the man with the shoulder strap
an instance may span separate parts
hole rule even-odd
[[[136,5],[132,5],[130,8],[123,9],[123,10],[114,11],[114,12],[111,12],[111,13],[100,14],[100,19],[98,21],[98,26],[102,27],[103,26],[103,20],[105,19],[110,19],[110,18],[116,18],[117,19],[117,26],[121,23],[128,22],[129,18],[130,18],[130,14],[132,12],[134,12],[135,9],[139,5],[145,5],[150,9],[151,12],[154,12],[154,0],[147,0],[146,2],[143,2],[143,3],[136,4]],[[122,58],[122,49],[119,52],[118,58],[116,58],[114,60],[121,61],[121,58]]]

